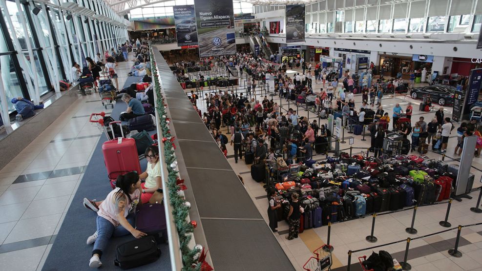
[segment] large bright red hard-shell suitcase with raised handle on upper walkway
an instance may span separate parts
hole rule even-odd
[[[109,124],[111,131],[113,131],[112,124],[120,125],[121,122],[111,122]],[[139,156],[137,155],[136,141],[133,138],[124,138],[124,132],[122,132],[122,137],[104,142],[102,144],[102,153],[104,154],[107,176],[112,188],[115,188],[117,176],[134,170],[139,174],[142,173]]]

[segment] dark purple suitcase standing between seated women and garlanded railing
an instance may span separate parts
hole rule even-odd
[[[143,204],[136,210],[136,229],[154,236],[158,244],[167,241],[167,225],[164,206],[157,203]]]

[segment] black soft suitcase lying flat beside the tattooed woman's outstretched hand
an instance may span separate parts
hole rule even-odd
[[[114,265],[123,270],[153,263],[161,256],[156,240],[152,236],[135,239],[116,247]]]

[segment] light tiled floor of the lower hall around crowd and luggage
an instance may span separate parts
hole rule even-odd
[[[314,84],[314,89],[319,90],[321,84]],[[240,91],[238,91],[239,93]],[[245,94],[245,91],[243,91]],[[209,90],[205,90],[202,93],[210,93]],[[265,92],[258,89],[257,99],[262,100]],[[270,96],[268,96],[270,97]],[[280,104],[279,97],[274,96],[274,101]],[[361,95],[355,96],[356,107],[361,104]],[[414,113],[413,119],[418,120],[420,116],[425,118],[428,122],[435,117],[435,112],[420,112],[418,110],[420,101],[413,100],[408,96],[396,96],[389,97],[385,96],[382,101],[385,112],[391,114],[393,107],[396,103],[399,103],[405,110],[406,104],[408,102],[413,103]],[[287,109],[288,104],[285,100],[281,101],[283,109]],[[198,100],[198,107],[204,112],[206,104]],[[296,105],[290,103],[290,107],[296,108]],[[286,112],[283,110],[283,112]],[[445,116],[451,117],[452,107],[444,108]],[[308,117],[307,111],[304,108],[299,107],[299,116]],[[310,113],[310,120],[314,118],[313,113]],[[326,124],[326,120],[321,120],[321,124]],[[223,133],[226,134],[226,127]],[[228,135],[230,136],[230,135]],[[345,131],[345,136],[353,136],[355,138],[353,147],[363,147],[367,148],[370,141],[361,141],[362,136],[356,136],[353,134],[348,134]],[[368,136],[368,134],[367,134]],[[451,134],[449,139],[447,157],[445,161],[449,163],[459,164],[458,161],[453,161],[451,158],[454,157],[453,151],[457,144],[457,138],[455,130]],[[350,147],[347,144],[341,144],[340,148]],[[233,169],[243,178],[245,183],[245,188],[250,194],[254,204],[258,207],[259,212],[262,214],[264,219],[268,223],[268,216],[266,209],[268,208],[268,202],[266,200],[266,192],[263,188],[263,183],[256,183],[251,179],[250,166],[247,166],[243,160],[238,161],[237,164],[234,163],[233,149],[232,146],[227,145],[228,148],[228,161],[230,162]],[[353,150],[356,154],[359,151]],[[417,154],[417,153],[416,153]],[[435,159],[441,159],[440,154],[429,152],[427,156]],[[448,158],[451,157],[451,158]],[[321,160],[324,156],[315,156],[314,159]],[[451,162],[450,162],[451,161]],[[475,174],[474,188],[479,187],[480,183],[478,180],[481,179],[482,173],[482,159],[475,158],[472,161],[472,173]],[[474,168],[475,167],[475,168]],[[474,198],[463,199],[462,202],[453,201],[452,208],[450,210],[450,215],[448,221],[452,223],[452,227],[457,227],[457,225],[467,225],[472,223],[482,222],[482,214],[476,214],[469,210],[469,208],[474,207],[477,202],[478,191],[471,194]],[[331,229],[331,240],[330,243],[335,247],[333,252],[333,268],[339,268],[337,270],[346,270],[347,260],[348,260],[348,250],[358,250],[363,248],[368,248],[372,246],[387,244],[395,242],[398,240],[406,240],[407,237],[415,238],[418,236],[423,236],[426,234],[431,234],[434,232],[445,230],[439,225],[439,221],[444,219],[447,204],[439,204],[433,206],[420,207],[417,210],[415,228],[418,230],[418,234],[410,235],[405,232],[405,228],[410,227],[413,210],[404,210],[391,214],[379,215],[376,218],[375,226],[375,236],[377,236],[378,241],[375,244],[368,243],[365,241],[365,236],[370,235],[371,217],[365,217],[361,219],[356,219],[352,221],[336,223],[332,225]],[[288,225],[284,221],[278,222],[278,232],[275,233],[281,247],[287,253],[293,266],[296,270],[303,270],[303,265],[306,261],[313,255],[312,251],[316,248],[322,246],[327,241],[327,227],[321,227],[316,229],[308,229],[301,233],[300,238],[288,241],[285,239],[288,233]],[[479,233],[480,232],[480,233]],[[447,251],[449,248],[453,248],[455,245],[455,237],[457,230],[450,230],[445,233],[433,235],[426,238],[420,238],[413,240],[410,243],[410,251],[408,256],[408,262],[412,265],[412,270],[482,270],[481,264],[482,260],[480,258],[480,253],[482,252],[482,226],[474,226],[462,229],[462,241],[460,250],[463,253],[462,258],[454,258],[448,255]],[[449,240],[449,241],[446,241]],[[406,242],[400,242],[397,244],[384,246],[378,250],[387,250],[392,254],[396,255],[398,261],[403,260],[403,252],[405,250]],[[397,253],[399,252],[399,253]],[[371,250],[360,251],[352,255],[352,264],[357,263],[358,256],[369,255]],[[400,255],[401,253],[401,255]],[[359,269],[356,269],[359,270]]]

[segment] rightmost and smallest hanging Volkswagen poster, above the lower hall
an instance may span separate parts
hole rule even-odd
[[[305,5],[286,5],[286,43],[305,41]]]

